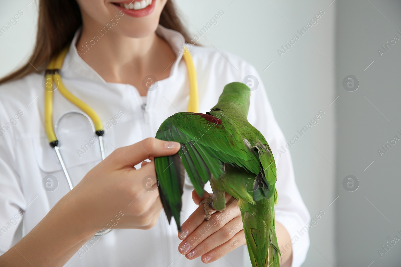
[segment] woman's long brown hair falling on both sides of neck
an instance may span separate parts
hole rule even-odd
[[[185,42],[189,42],[189,34],[172,1],[167,0],[159,24],[180,32]],[[81,25],[82,18],[76,0],[39,0],[38,31],[33,53],[24,66],[1,78],[0,84],[45,70],[50,59],[73,40]]]

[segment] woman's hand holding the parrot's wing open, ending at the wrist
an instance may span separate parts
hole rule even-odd
[[[93,231],[109,228],[150,229],[162,210],[154,163],[134,165],[175,154],[180,145],[148,138],[116,149],[85,175],[65,198]]]

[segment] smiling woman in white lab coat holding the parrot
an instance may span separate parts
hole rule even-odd
[[[186,221],[177,233],[161,213],[157,185],[147,185],[155,171],[145,160],[179,148],[149,137],[165,118],[188,106],[182,53],[190,40],[170,0],[39,1],[34,52],[27,64],[0,80],[0,126],[5,126],[0,129],[1,266],[243,265],[245,237],[236,205],[213,214],[217,223],[205,228],[203,206],[197,205],[201,198],[186,185]],[[63,118],[58,137],[75,185],[71,191],[43,120],[44,71],[68,45],[60,69],[63,84],[99,114],[107,156],[99,163],[100,151],[83,117]],[[187,46],[198,77],[200,112],[217,102],[225,84],[247,75],[259,80],[248,118],[276,159],[282,266],[300,266],[309,237],[295,236],[310,217],[294,181],[290,153],[275,153],[285,139],[259,75],[227,52]],[[77,109],[57,90],[53,102],[54,122]],[[209,185],[206,189],[211,192]],[[236,203],[232,197],[227,202]],[[107,228],[113,230],[94,237]]]

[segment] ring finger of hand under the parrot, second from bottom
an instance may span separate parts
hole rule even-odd
[[[224,244],[229,241],[239,231],[243,230],[243,224],[241,217],[235,217],[224,225],[219,231],[205,239],[199,245],[194,247],[191,251],[186,254],[187,259],[195,259],[205,253],[208,253],[212,249]]]

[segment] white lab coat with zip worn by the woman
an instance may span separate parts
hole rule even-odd
[[[148,92],[146,103],[134,86],[105,82],[80,58],[75,45],[70,46],[65,58],[61,71],[63,83],[99,114],[105,125],[106,156],[115,148],[154,137],[164,119],[187,109],[189,83],[182,59],[184,38],[162,26],[156,32],[170,44],[177,57],[170,76]],[[73,44],[78,33],[79,30]],[[273,116],[259,74],[249,63],[228,52],[202,46],[192,46],[190,52],[198,76],[200,112],[209,111],[217,103],[225,84],[242,82],[249,74],[257,77],[259,86],[251,92],[248,119],[265,136],[276,161],[279,202],[275,219],[286,227],[291,238],[300,236],[297,231],[306,226],[310,215],[295,184],[290,153],[277,153],[286,140]],[[26,235],[69,191],[46,137],[43,80],[43,73],[35,73],[0,86],[0,254]],[[54,123],[61,114],[75,109],[55,91]],[[98,144],[91,145],[94,135],[87,123],[79,115],[67,116],[59,127],[60,150],[74,186],[101,159]],[[58,184],[54,191],[48,188],[51,187],[48,175],[53,176],[49,176],[54,181],[53,188]],[[211,192],[210,185],[206,187]],[[184,189],[182,222],[196,209],[191,191],[189,186]],[[180,255],[179,243],[174,221],[168,225],[162,212],[150,230],[114,229],[99,239],[91,239],[65,266],[204,266],[200,258],[188,260]],[[297,267],[306,257],[308,234],[293,243],[292,266]],[[241,246],[209,265],[243,266],[243,249],[246,247]]]

